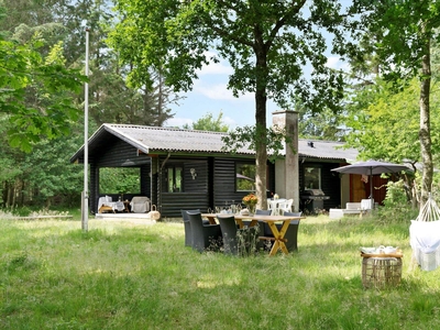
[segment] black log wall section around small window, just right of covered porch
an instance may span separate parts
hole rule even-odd
[[[161,166],[165,157],[160,160]],[[208,189],[208,158],[195,157],[170,157],[166,161],[162,173],[158,175],[161,182],[161,191],[165,190],[165,167],[167,165],[183,166],[183,186],[182,193],[161,193],[160,205],[157,206],[163,218],[180,218],[183,209],[200,209],[207,212],[209,208],[209,189]],[[193,179],[190,168],[195,168],[197,177]]]

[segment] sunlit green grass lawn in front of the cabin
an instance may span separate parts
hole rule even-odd
[[[410,262],[409,221],[308,218],[297,253],[184,246],[176,222],[0,221],[0,329],[439,329],[440,270]],[[364,289],[359,246],[398,245],[402,285]]]

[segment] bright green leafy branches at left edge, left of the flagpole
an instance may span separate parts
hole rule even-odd
[[[37,52],[37,38],[30,44],[0,40],[0,112],[8,114],[13,129],[8,131],[13,147],[30,152],[42,136],[54,139],[69,132],[70,121],[78,119],[78,108],[68,91],[78,92],[85,77],[67,69],[59,61],[48,62]],[[30,105],[25,94],[33,90]]]

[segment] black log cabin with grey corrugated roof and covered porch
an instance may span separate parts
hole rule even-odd
[[[88,141],[90,211],[98,211],[98,199],[103,195],[112,196],[113,200],[147,196],[164,218],[179,217],[182,209],[207,211],[240,202],[253,187],[253,177],[246,174],[255,165],[255,154],[248,148],[235,154],[223,151],[221,138],[224,135],[170,128],[102,124]],[[344,150],[342,145],[299,140],[298,164],[294,165],[299,174],[298,184],[287,184],[285,190],[295,189],[298,196],[308,188],[321,189],[329,197],[323,200],[324,209],[340,207],[344,202],[341,194],[343,182],[330,169],[354,161],[358,155],[355,150]],[[84,164],[84,146],[70,162]],[[283,180],[286,168],[279,162],[267,162],[268,197],[277,193],[277,185],[286,185]],[[100,191],[100,172],[114,167],[139,170],[139,191]],[[283,173],[278,170],[282,167]],[[297,208],[305,209],[302,204],[299,201]]]

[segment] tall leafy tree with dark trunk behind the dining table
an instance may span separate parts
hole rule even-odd
[[[301,99],[317,111],[324,105],[338,109],[343,81],[326,66],[322,32],[334,34],[334,52],[348,45],[339,30],[341,6],[326,0],[309,7],[305,0],[119,0],[117,8],[120,23],[111,45],[124,63],[133,65],[130,78],[138,86],[150,84],[142,73],[153,66],[163,68],[167,84],[186,91],[197,69],[223,57],[233,68],[228,85],[233,95],[255,95],[255,127],[234,136],[239,142],[252,140],[258,207],[265,207],[266,100],[286,107],[292,99]],[[217,55],[207,57],[211,50]],[[314,68],[310,79],[304,77],[306,64]]]

